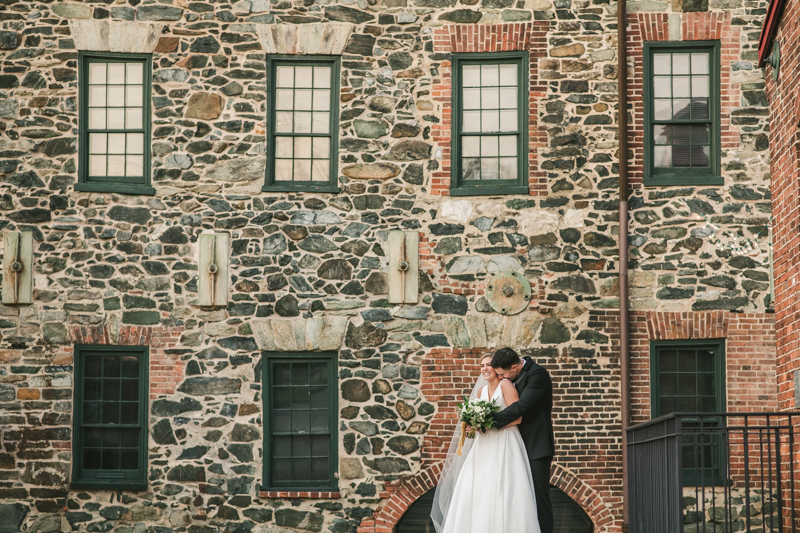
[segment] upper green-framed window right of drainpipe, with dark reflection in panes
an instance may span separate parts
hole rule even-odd
[[[722,185],[719,41],[645,43],[645,184]]]

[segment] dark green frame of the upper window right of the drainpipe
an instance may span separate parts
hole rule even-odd
[[[679,167],[656,168],[653,150],[655,139],[654,124],[694,124],[700,121],[654,120],[653,94],[653,54],[658,52],[688,51],[708,52],[709,64],[709,169]],[[676,41],[644,43],[644,184],[645,186],[686,186],[686,185],[723,185],[725,180],[721,174],[721,110],[720,110],[720,42],[719,41]],[[705,123],[706,121],[702,121]]]

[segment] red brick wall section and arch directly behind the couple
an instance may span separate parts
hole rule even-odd
[[[615,312],[591,313],[590,327],[618,334]],[[607,532],[620,531],[622,501],[619,365],[611,361],[619,346],[613,342],[596,360],[579,361],[569,349],[563,357],[537,357],[554,381],[557,456],[551,483],[587,512],[597,531]],[[480,357],[491,351],[433,349],[426,355],[420,388],[438,408],[423,440],[422,467],[414,476],[384,484],[384,501],[374,516],[362,521],[358,533],[390,533],[408,508],[436,486],[455,429],[455,407],[471,391]],[[601,358],[606,359],[602,366]]]

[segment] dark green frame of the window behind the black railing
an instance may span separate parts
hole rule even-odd
[[[661,386],[660,386],[660,373],[659,368],[661,364],[661,350],[680,350],[686,349],[712,349],[715,352],[714,372],[715,372],[715,411],[714,413],[726,412],[727,399],[726,399],[726,352],[725,352],[725,339],[698,339],[698,340],[659,340],[650,341],[650,418],[655,419],[669,413],[664,413],[661,410]],[[675,395],[676,397],[679,395]],[[698,416],[687,417],[686,411],[673,411],[681,413],[681,425],[687,428],[705,427],[720,427],[724,423],[724,419],[718,416]],[[687,444],[692,439],[691,431],[683,431],[684,447],[692,446]],[[705,473],[700,473],[700,469],[695,467],[684,466],[682,472],[683,485],[687,487],[698,486],[700,483],[705,483],[707,486],[711,485],[724,485],[727,481],[724,479],[723,474],[725,471],[725,449],[723,446],[723,435],[717,433],[713,437],[712,446],[716,448],[716,453],[713,454],[712,460],[716,463],[710,468],[706,469]],[[702,446],[702,444],[701,444]]]

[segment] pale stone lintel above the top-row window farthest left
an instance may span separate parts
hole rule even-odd
[[[109,19],[69,21],[75,48],[92,52],[152,54],[163,28],[161,23]]]

